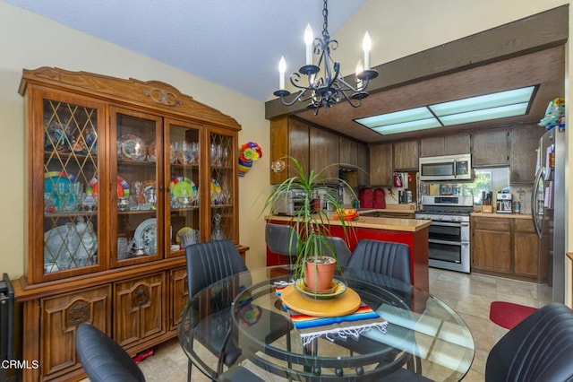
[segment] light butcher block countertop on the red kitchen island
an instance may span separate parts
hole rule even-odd
[[[382,210],[384,211],[384,210]],[[291,221],[291,216],[267,216],[267,221]],[[400,218],[375,218],[368,216],[359,216],[358,220],[346,221],[348,225],[355,228],[369,228],[374,230],[397,230],[405,232],[416,232],[428,228],[432,221],[419,219],[400,219]],[[330,221],[332,225],[342,225],[340,221],[333,218]]]

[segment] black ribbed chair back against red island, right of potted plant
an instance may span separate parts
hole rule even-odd
[[[410,276],[410,247],[406,244],[361,239],[355,247],[349,268],[364,269],[412,283]]]

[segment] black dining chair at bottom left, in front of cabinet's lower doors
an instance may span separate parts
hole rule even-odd
[[[75,349],[91,382],[143,382],[141,369],[124,349],[95,326],[80,324]]]

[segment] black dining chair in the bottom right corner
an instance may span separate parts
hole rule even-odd
[[[485,380],[573,380],[573,311],[552,302],[514,326],[493,345]]]

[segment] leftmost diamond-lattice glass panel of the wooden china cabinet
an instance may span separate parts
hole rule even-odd
[[[97,109],[57,100],[44,108],[44,272],[98,263]]]

